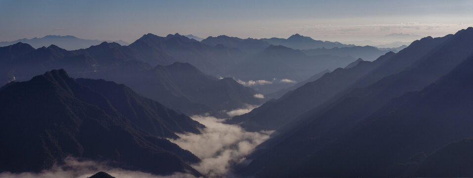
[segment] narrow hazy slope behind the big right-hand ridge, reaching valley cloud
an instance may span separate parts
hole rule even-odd
[[[394,53],[386,53],[380,58],[390,58]],[[277,100],[270,100],[251,112],[236,116],[228,123],[242,123],[247,130],[274,130],[285,125],[291,118],[329,100],[338,92],[368,74],[377,63],[362,62],[350,69],[338,68],[314,82],[309,82],[287,92]],[[317,92],[314,92],[317,91]],[[274,115],[276,114],[276,115]]]

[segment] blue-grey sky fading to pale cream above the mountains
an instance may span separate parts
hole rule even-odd
[[[440,37],[473,26],[473,0],[0,0],[0,24],[0,41],[298,33],[367,45]]]

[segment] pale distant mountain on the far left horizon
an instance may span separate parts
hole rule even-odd
[[[8,46],[17,44],[18,42],[26,43],[32,45],[34,48],[40,48],[43,46],[57,45],[61,48],[67,50],[75,50],[81,48],[88,48],[92,45],[98,45],[102,42],[112,42],[112,41],[100,41],[100,40],[85,40],[80,39],[74,36],[57,36],[57,35],[47,35],[43,38],[32,38],[32,39],[19,39],[11,42],[0,42],[0,46]],[[129,45],[129,43],[124,41],[115,41],[120,45]]]

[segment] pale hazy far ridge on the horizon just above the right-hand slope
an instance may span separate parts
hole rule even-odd
[[[398,52],[398,50],[395,49],[381,50],[373,46],[333,47],[330,49],[324,47],[302,50],[302,52],[307,55],[329,54],[334,56],[352,56],[354,58],[362,58],[367,61],[374,61],[379,56],[389,51]]]

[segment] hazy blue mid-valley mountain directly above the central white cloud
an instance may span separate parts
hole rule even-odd
[[[215,115],[226,117],[225,113],[221,115],[218,111],[264,102],[264,99],[253,96],[258,93],[253,89],[243,87],[231,78],[218,80],[205,75],[189,63],[158,65],[152,70],[137,72],[132,78],[113,78],[135,86],[145,96],[189,114],[212,111]]]

